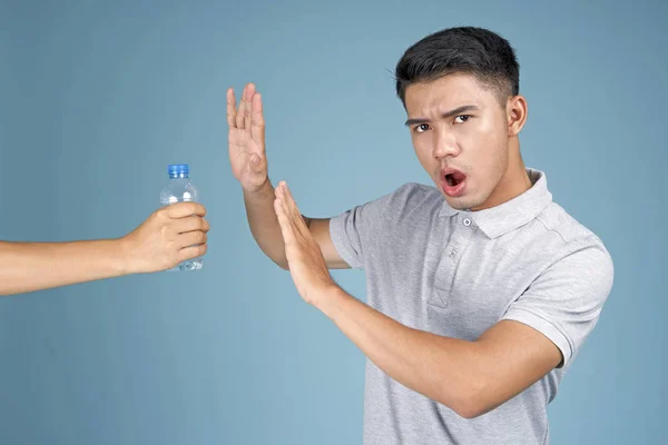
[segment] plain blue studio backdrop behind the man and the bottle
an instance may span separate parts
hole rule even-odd
[[[356,444],[364,356],[263,256],[229,171],[225,91],[264,96],[272,179],[327,217],[430,184],[391,71],[473,24],[521,65],[528,166],[616,265],[550,405],[554,444],[665,436],[664,2],[0,2],[0,239],[117,237],[190,164],[199,273],[0,298],[2,444]],[[361,271],[335,278],[364,298]]]

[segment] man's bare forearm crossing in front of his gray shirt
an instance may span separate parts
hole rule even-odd
[[[409,328],[335,287],[317,307],[376,366],[460,415],[474,416],[483,356],[473,342]]]

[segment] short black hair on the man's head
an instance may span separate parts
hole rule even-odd
[[[504,106],[520,92],[520,65],[508,40],[475,27],[448,28],[411,46],[396,65],[396,95],[405,107],[406,88],[453,73],[474,76]]]

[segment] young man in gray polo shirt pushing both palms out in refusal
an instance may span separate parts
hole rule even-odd
[[[601,240],[524,167],[527,100],[509,42],[446,29],[409,48],[396,92],[435,184],[332,219],[267,177],[262,99],[227,96],[229,156],[250,230],[297,290],[369,357],[365,444],[544,444],[547,405],[613,276]],[[365,305],[327,268],[363,268]]]

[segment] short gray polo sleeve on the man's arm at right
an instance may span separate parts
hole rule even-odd
[[[598,323],[612,288],[613,265],[600,243],[580,246],[547,268],[510,305],[502,319],[520,322],[547,336],[567,365]]]

